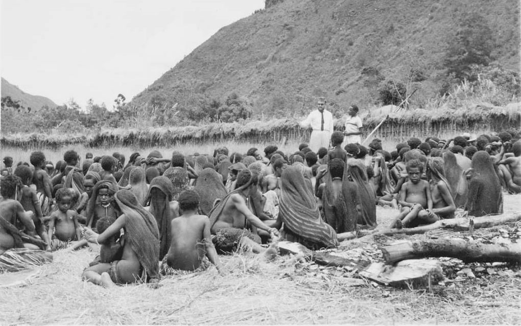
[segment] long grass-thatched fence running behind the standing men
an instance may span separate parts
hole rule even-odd
[[[458,110],[408,110],[389,113],[389,118],[374,137],[389,141],[402,141],[410,137],[451,137],[463,132],[471,134],[519,128],[521,125],[520,104],[505,107],[476,106]],[[364,135],[385,117],[387,112],[373,112],[364,118]],[[201,126],[105,129],[95,135],[2,135],[2,146],[29,148],[57,148],[70,144],[87,147],[170,147],[185,143],[205,143],[235,140],[253,143],[280,143],[284,139],[309,139],[311,130],[301,128],[301,118],[250,121],[244,123],[213,123]],[[343,129],[343,120],[335,122],[335,129]]]

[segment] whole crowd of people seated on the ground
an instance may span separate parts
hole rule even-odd
[[[338,133],[337,133],[338,134]],[[504,192],[521,192],[521,140],[516,130],[443,140],[411,138],[392,151],[333,132],[331,148],[292,153],[268,144],[246,153],[163,158],[156,150],[66,151],[49,162],[42,151],[3,158],[0,180],[0,272],[49,252],[90,246],[83,280],[105,287],[203,271],[223,273],[220,255],[278,254],[280,239],[309,249],[334,248],[377,227],[376,207],[394,212],[386,228],[452,219],[458,212],[502,212]],[[263,156],[264,153],[265,155]],[[30,162],[30,163],[28,163]],[[80,275],[78,275],[80,277]]]

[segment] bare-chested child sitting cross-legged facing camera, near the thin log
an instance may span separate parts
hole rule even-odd
[[[391,223],[391,228],[402,228],[410,224],[428,224],[438,221],[438,216],[432,213],[429,183],[427,180],[421,179],[423,164],[419,160],[410,160],[405,168],[409,180],[401,187],[398,203],[402,206],[402,209]]]

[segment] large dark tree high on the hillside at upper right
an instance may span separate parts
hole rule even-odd
[[[479,14],[464,18],[449,38],[444,65],[446,74],[458,81],[473,80],[472,65],[488,66],[494,48],[492,30]]]

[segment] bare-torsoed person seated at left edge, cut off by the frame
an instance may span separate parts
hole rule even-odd
[[[26,231],[34,232],[33,212],[23,210],[22,204],[15,199],[21,196],[22,182],[15,175],[8,175],[0,180],[0,219],[4,219],[10,224],[16,225],[20,221]],[[0,224],[0,254],[7,249],[14,248],[15,239]]]

